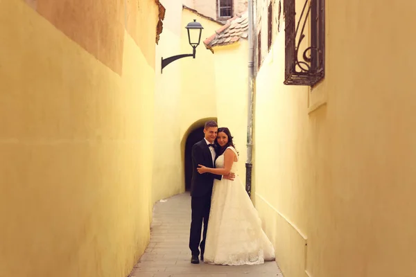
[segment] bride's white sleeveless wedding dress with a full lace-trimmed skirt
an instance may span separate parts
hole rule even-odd
[[[227,148],[228,149],[228,148]],[[229,147],[237,156],[237,152]],[[224,168],[224,154],[215,162]],[[261,220],[239,179],[214,181],[204,262],[215,265],[260,265],[275,260],[275,249],[261,229]]]

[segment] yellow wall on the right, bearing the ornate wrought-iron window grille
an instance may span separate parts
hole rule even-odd
[[[416,6],[325,9],[321,84],[283,84],[284,26],[257,76],[256,206],[285,277],[415,276]]]

